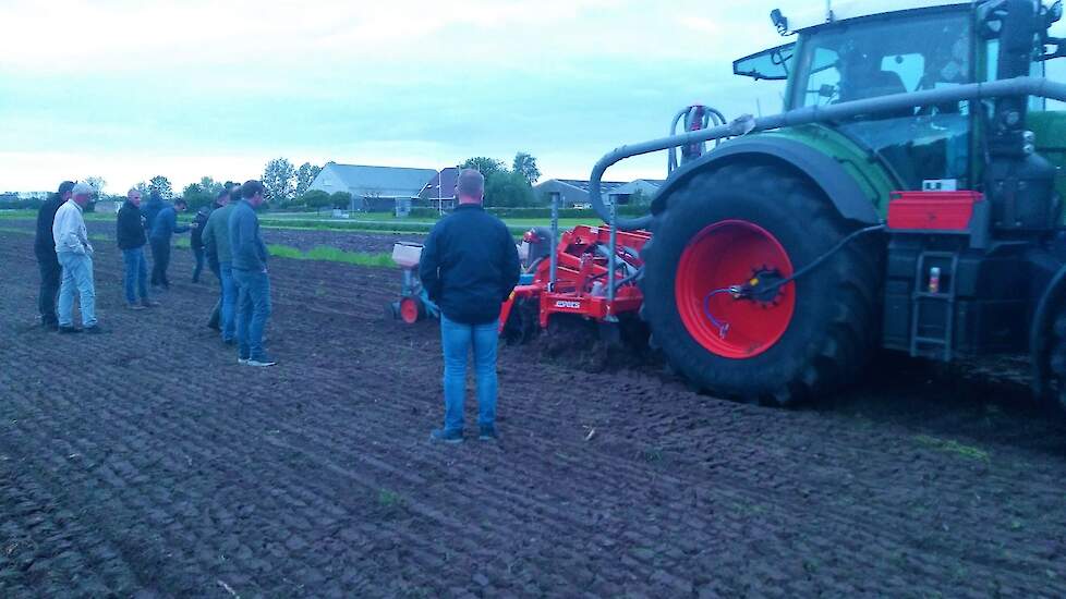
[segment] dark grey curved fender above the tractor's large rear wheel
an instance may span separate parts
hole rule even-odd
[[[670,192],[683,185],[692,175],[727,163],[752,159],[770,159],[809,179],[829,198],[845,219],[870,224],[880,222],[877,210],[870,198],[837,160],[801,142],[768,136],[741,137],[726,142],[674,171],[674,175],[656,194],[652,212],[658,213],[666,209],[665,204]]]

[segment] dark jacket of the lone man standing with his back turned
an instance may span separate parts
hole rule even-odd
[[[462,204],[429,232],[419,276],[449,320],[484,325],[518,284],[518,248],[502,221]]]

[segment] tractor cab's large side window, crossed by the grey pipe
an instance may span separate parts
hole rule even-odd
[[[801,36],[789,98],[794,109],[973,81],[965,8],[843,22]],[[906,188],[920,190],[925,180],[969,184],[967,102],[859,115],[829,126],[875,152]]]

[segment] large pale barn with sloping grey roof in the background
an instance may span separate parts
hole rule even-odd
[[[310,188],[328,194],[350,193],[352,210],[391,211],[397,199],[420,197],[437,176],[434,169],[367,167],[330,161],[326,162]]]

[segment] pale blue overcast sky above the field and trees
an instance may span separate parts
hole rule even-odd
[[[779,108],[730,74],[796,0],[0,0],[0,192],[293,163],[533,154],[585,179],[680,107]],[[663,176],[665,157],[608,178]]]

